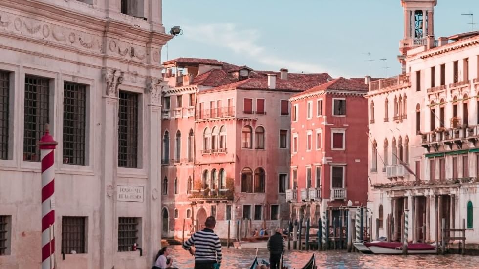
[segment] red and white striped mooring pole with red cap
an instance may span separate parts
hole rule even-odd
[[[55,268],[55,158],[58,143],[45,126],[45,135],[38,142],[42,157],[42,269]]]

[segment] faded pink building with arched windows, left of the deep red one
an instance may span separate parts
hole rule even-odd
[[[172,87],[164,95],[162,126],[165,134],[168,130],[168,141],[164,139],[163,156],[175,152],[174,160],[163,166],[168,189],[163,197],[165,233],[182,236],[183,220],[185,229],[193,231],[209,215],[217,218],[222,238],[227,237],[228,221],[232,237],[239,220],[249,220],[240,222],[243,234],[246,227],[270,228],[281,220],[285,226],[288,100],[327,82],[329,75],[254,71],[208,59],[180,58],[164,64]],[[180,95],[193,100],[188,107],[185,97],[178,105]],[[178,131],[181,135],[174,135]]]

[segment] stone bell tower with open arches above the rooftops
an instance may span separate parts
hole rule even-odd
[[[427,45],[427,39],[434,38],[434,7],[437,0],[401,0],[404,9],[404,37],[399,43],[397,58],[406,67],[406,52],[412,48]]]

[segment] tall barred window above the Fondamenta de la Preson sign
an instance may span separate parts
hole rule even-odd
[[[120,91],[118,110],[118,166],[138,166],[138,94]]]

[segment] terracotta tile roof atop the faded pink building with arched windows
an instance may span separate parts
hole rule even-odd
[[[274,73],[274,72],[270,72]],[[239,82],[224,84],[216,88],[203,90],[201,92],[211,92],[225,89],[245,89],[245,90],[270,90],[268,87],[268,79],[264,75],[259,77],[250,77],[249,79]],[[286,91],[304,91],[311,87],[326,83],[327,79],[331,78],[327,73],[321,74],[288,74],[287,80],[276,79],[276,90]]]

